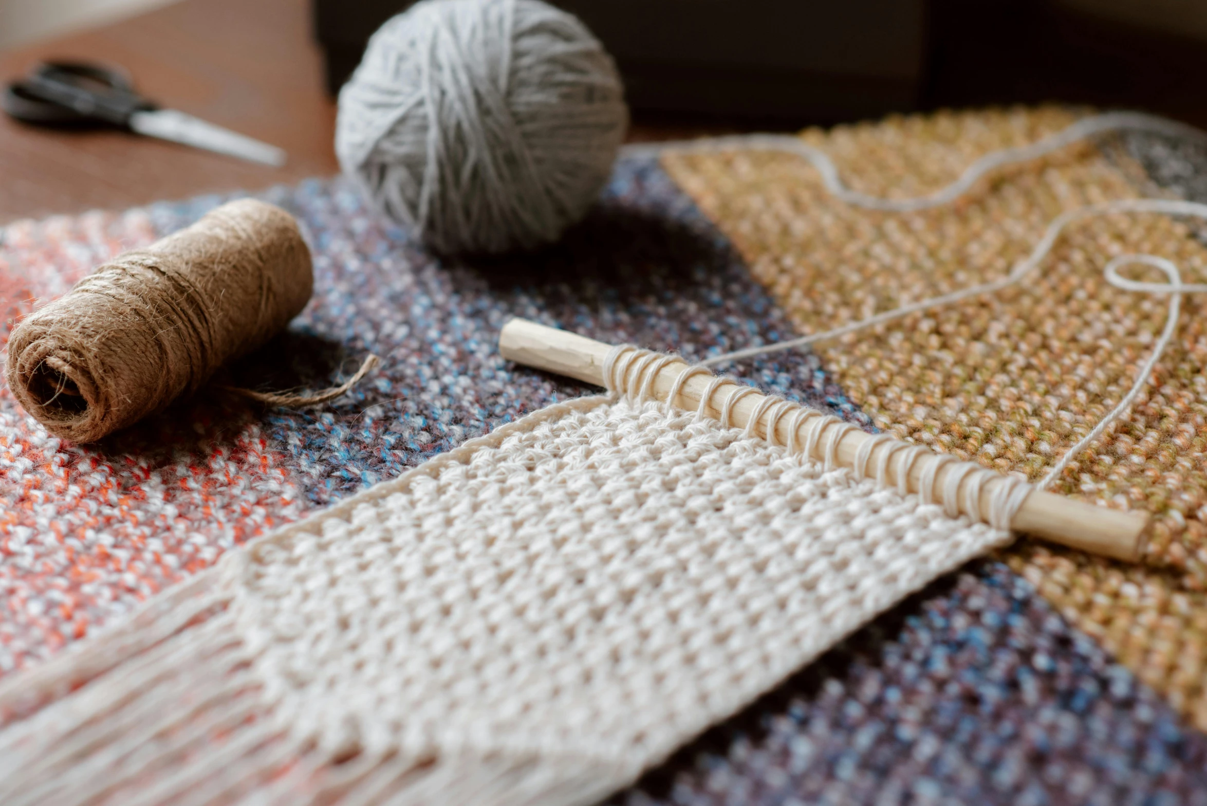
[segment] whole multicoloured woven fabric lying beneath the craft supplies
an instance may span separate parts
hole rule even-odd
[[[1062,110],[943,115],[805,136],[852,186],[909,195],[1069,119]],[[339,180],[275,189],[266,198],[299,217],[314,249],[315,298],[287,335],[232,368],[233,380],[325,386],[366,351],[383,368],[319,409],[202,395],[88,446],[49,438],[0,390],[0,673],[37,664],[252,536],[584,393],[498,358],[496,334],[512,315],[718,355],[1004,271],[1061,209],[1153,185],[1193,193],[1193,158],[1150,139],[1072,147],[951,209],[902,216],[828,199],[792,157],[667,156],[666,170],[630,158],[562,244],[477,263],[427,255]],[[4,332],[35,299],[220,202],[0,230]],[[1145,333],[1162,322],[1160,303],[1100,287],[1098,256],[1155,241],[1149,251],[1197,274],[1207,253],[1194,235],[1155,216],[1089,223],[1053,256],[1061,270],[1042,290],[727,372],[1034,475],[1126,389]],[[1143,567],[1032,543],[973,563],[616,802],[1207,804],[1207,736],[1195,728],[1207,728],[1207,303],[1185,304],[1161,384],[1062,490],[1153,508],[1161,530]],[[1080,319],[1066,321],[1066,310]],[[1115,346],[1086,333],[1110,333]],[[1016,369],[1018,350],[1030,363]],[[1057,381],[1068,393],[1054,403]]]

